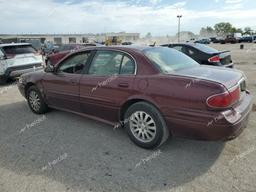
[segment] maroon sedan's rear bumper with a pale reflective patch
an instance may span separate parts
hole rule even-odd
[[[179,111],[179,118],[165,117],[171,133],[177,137],[200,140],[231,140],[247,127],[252,108],[252,96],[247,94],[243,102],[233,110],[222,112]]]

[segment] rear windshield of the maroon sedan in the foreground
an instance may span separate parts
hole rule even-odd
[[[172,73],[184,68],[199,66],[199,64],[185,54],[171,48],[156,47],[143,51],[162,73]]]

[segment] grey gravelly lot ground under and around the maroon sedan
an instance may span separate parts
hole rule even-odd
[[[211,46],[232,51],[256,95],[256,44]],[[172,139],[153,152],[122,129],[55,110],[34,115],[16,86],[0,90],[1,192],[256,191],[255,112],[233,141]]]

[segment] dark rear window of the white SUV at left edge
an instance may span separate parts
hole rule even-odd
[[[3,50],[7,55],[36,53],[36,50],[31,45],[6,46],[3,47]]]

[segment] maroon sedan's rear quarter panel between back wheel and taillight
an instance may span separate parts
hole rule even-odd
[[[137,76],[134,90],[138,99],[155,105],[173,135],[183,136],[189,132],[186,122],[197,122],[206,127],[218,116],[219,112],[210,109],[206,100],[226,89],[212,81],[158,74]]]

